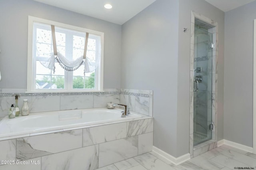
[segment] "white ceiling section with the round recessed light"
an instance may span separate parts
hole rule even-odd
[[[116,24],[124,24],[156,0],[35,0]],[[104,8],[111,4],[112,9]]]

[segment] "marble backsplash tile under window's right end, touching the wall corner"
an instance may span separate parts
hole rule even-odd
[[[107,104],[110,102],[120,104],[120,95],[119,94],[94,95],[93,107],[105,108],[107,107]]]

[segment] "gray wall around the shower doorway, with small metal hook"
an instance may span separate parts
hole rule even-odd
[[[223,84],[224,84],[224,12],[204,0],[179,0],[178,49],[178,156],[188,153],[189,91],[190,91],[190,28],[191,10],[216,22],[219,26],[218,55],[218,140],[223,139]]]

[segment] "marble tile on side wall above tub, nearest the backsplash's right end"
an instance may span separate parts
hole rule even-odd
[[[136,96],[135,112],[149,116],[149,98]]]

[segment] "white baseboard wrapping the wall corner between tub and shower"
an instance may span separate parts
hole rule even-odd
[[[158,158],[168,160],[168,161],[172,162],[174,165],[179,165],[179,164],[182,164],[183,162],[190,160],[189,153],[176,158],[176,157],[164,152],[163,150],[156,148],[156,146],[153,146],[152,152],[154,152]]]

